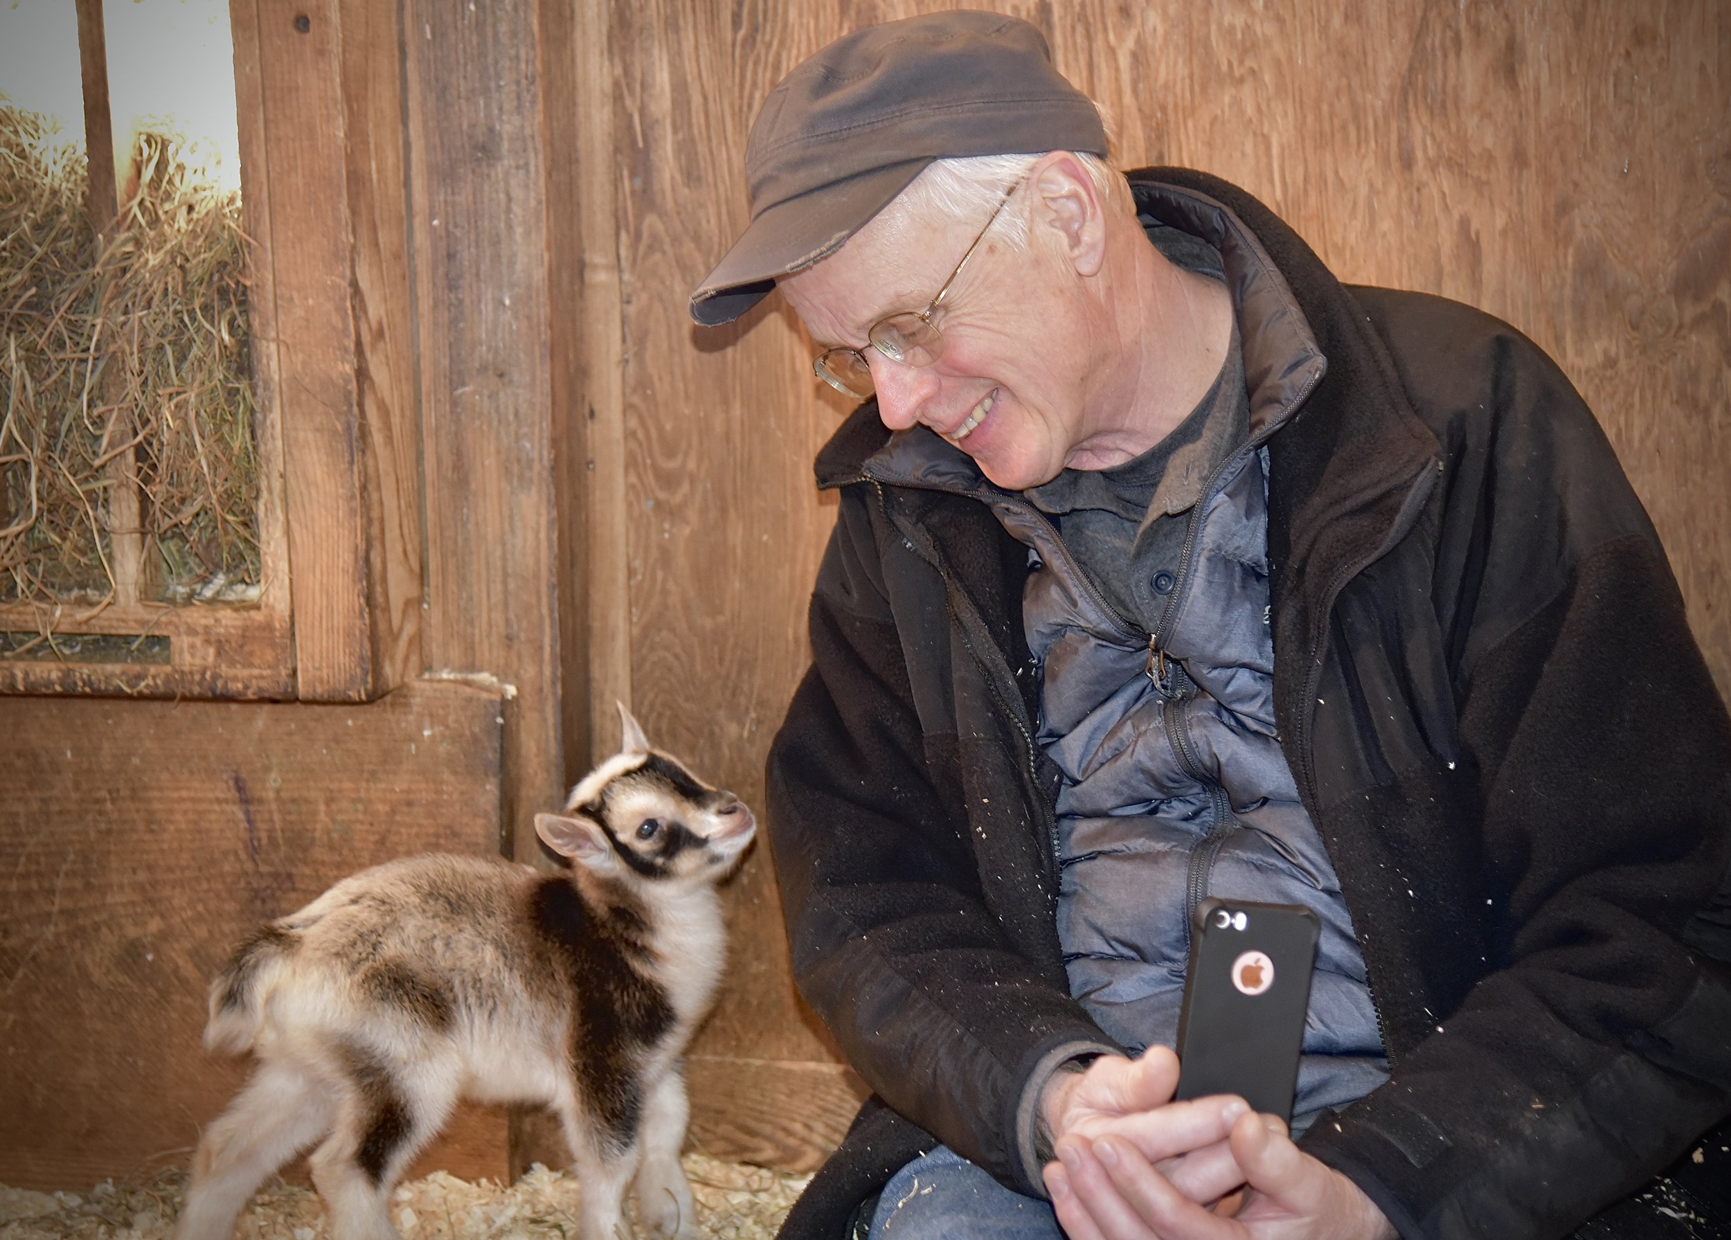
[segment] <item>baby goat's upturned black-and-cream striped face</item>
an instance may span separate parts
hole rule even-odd
[[[627,752],[573,790],[564,816],[537,814],[535,830],[554,852],[602,873],[713,878],[744,852],[756,819],[665,753]]]

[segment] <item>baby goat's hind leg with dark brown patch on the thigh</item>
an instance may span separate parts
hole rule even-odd
[[[396,1240],[391,1188],[450,1117],[460,1069],[393,1070],[372,1062],[353,1074],[329,1140],[308,1166],[334,1240]]]

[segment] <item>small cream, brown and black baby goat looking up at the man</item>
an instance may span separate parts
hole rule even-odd
[[[613,1240],[635,1178],[644,1223],[698,1235],[679,1166],[680,1055],[715,994],[715,885],[751,811],[649,746],[621,752],[535,830],[568,875],[483,857],[393,861],[272,921],[211,984],[204,1044],[258,1070],[209,1126],[178,1240],[227,1240],[313,1141],[336,1240],[389,1240],[391,1186],[459,1096],[545,1103],[583,1185],[583,1240]]]

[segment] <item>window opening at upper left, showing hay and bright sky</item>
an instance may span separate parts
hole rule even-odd
[[[0,660],[260,596],[237,147],[227,0],[0,0]]]

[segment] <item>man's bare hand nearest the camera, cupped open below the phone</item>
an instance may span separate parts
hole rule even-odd
[[[1395,1240],[1371,1198],[1293,1145],[1272,1115],[1246,1108],[1231,1127],[1227,1146],[1250,1186],[1231,1217],[1200,1205],[1208,1198],[1182,1192],[1139,1146],[1123,1131],[1058,1140],[1046,1188],[1070,1240]]]

